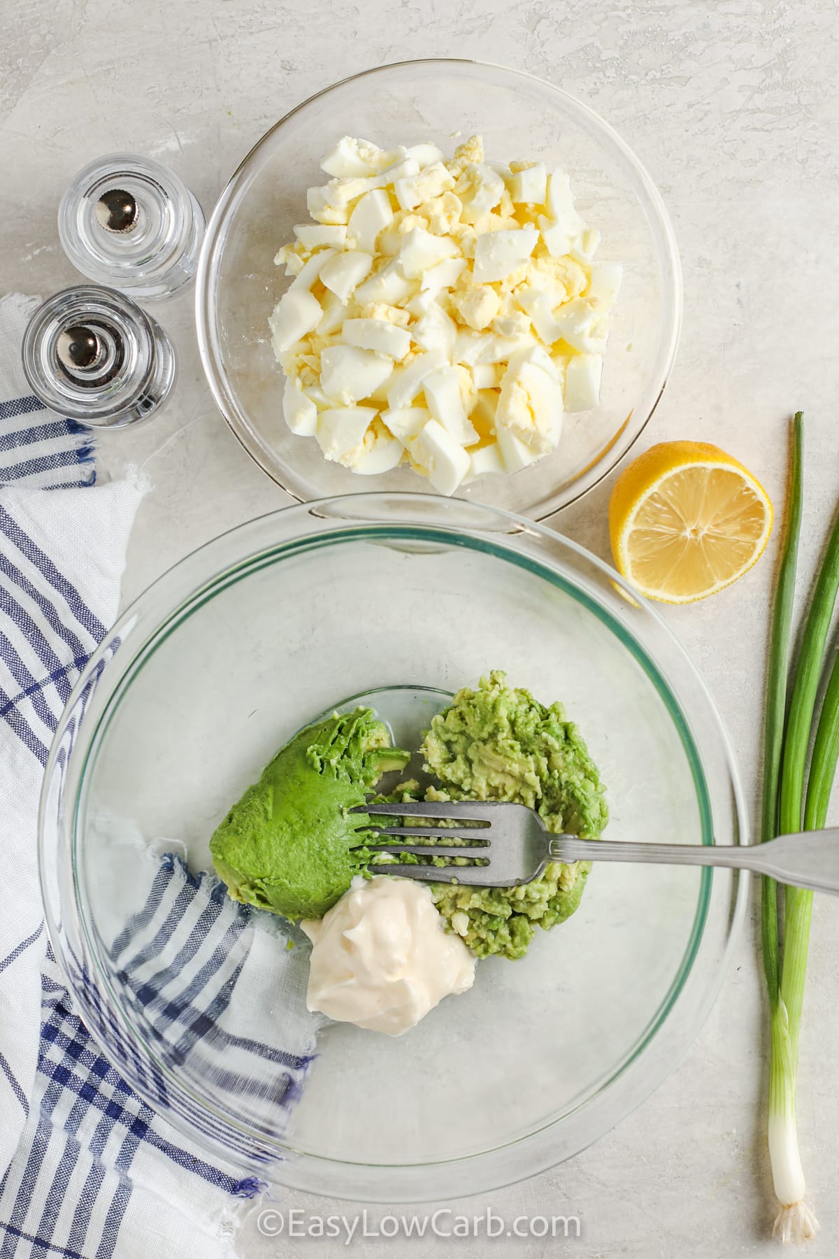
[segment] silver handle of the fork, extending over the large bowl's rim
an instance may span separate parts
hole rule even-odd
[[[640,861],[654,865],[728,866],[765,874],[779,883],[839,895],[839,827],[781,835],[766,844],[717,847],[713,844],[620,844],[553,836],[555,861]]]

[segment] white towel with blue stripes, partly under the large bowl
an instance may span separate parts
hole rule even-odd
[[[0,302],[0,1259],[226,1259],[243,1200],[263,1186],[191,1148],[99,1054],[47,942],[36,862],[43,768],[72,686],[116,617],[142,487],[136,476],[94,485],[89,433],[28,395],[19,347],[31,307]],[[248,913],[213,878],[151,854],[137,914],[113,940],[137,1000],[158,1026],[172,1020],[185,1051],[190,1036],[205,1036],[211,1010],[214,1036],[229,1049],[236,1037],[225,1017],[240,1017],[236,993],[253,1000],[248,962],[259,968],[258,948],[248,946],[233,977],[221,962],[203,967],[189,1002],[169,1001],[166,985],[197,973],[199,920],[214,918],[234,939],[248,932]],[[137,925],[157,939],[151,968],[132,952]],[[311,1026],[301,1029],[302,1049],[313,1047]],[[282,1105],[309,1061],[304,1051],[287,1055]]]

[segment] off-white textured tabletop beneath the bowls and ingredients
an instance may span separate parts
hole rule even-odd
[[[803,570],[839,497],[836,305],[839,23],[830,0],[5,0],[0,38],[0,257],[4,291],[77,277],[55,234],[78,167],[117,149],[170,162],[210,209],[240,157],[289,107],[353,69],[472,55],[530,69],[609,118],[649,167],[682,248],[686,320],[675,373],[642,441],[727,447],[780,502],[785,419],[804,408]],[[375,137],[374,137],[375,138]],[[181,360],[171,408],[112,434],[107,456],[145,465],[126,594],[221,529],[283,502],[238,447],[200,378],[191,296],[157,306]],[[608,555],[603,485],[560,528]],[[757,796],[761,685],[775,549],[704,606],[668,612],[733,734]],[[755,908],[704,1031],[645,1105],[579,1158],[473,1200],[499,1214],[575,1214],[579,1259],[769,1255],[764,1146],[766,1034]],[[823,1234],[839,1253],[839,912],[816,901],[801,1046],[800,1133]],[[327,1207],[303,1195],[283,1205]],[[374,1211],[375,1219],[379,1212]],[[353,1241],[351,1253],[536,1256],[562,1243]],[[240,1253],[311,1256],[341,1241],[260,1239]]]

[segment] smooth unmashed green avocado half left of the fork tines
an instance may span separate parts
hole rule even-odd
[[[352,852],[370,818],[350,813],[410,753],[390,747],[372,709],[302,730],[265,765],[210,840],[235,900],[286,918],[322,918],[365,864]]]

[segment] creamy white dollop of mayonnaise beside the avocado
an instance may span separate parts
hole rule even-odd
[[[474,980],[474,953],[445,933],[430,890],[411,879],[357,876],[301,927],[314,946],[306,1005],[338,1022],[401,1036]]]

